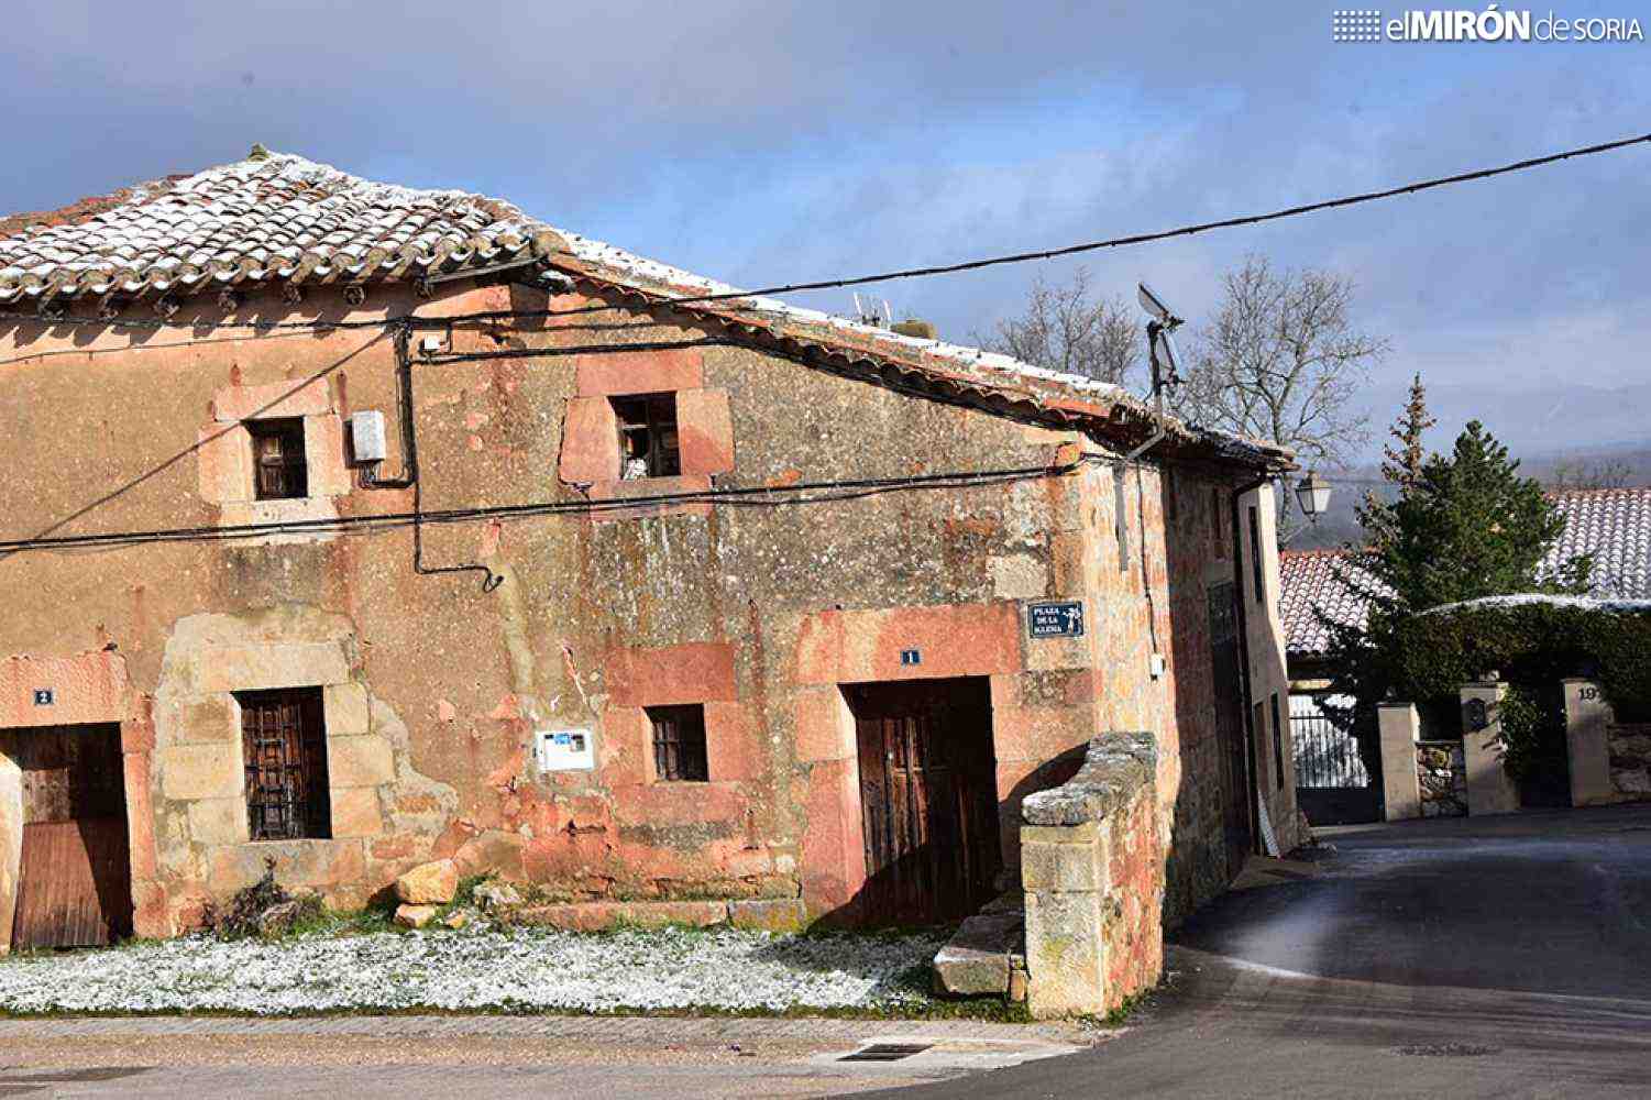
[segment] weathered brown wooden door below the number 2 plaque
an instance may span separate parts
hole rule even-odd
[[[13,733],[23,859],[13,950],[97,946],[132,932],[132,864],[119,725]]]

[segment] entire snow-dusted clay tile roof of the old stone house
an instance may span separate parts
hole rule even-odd
[[[741,294],[738,287],[566,233],[510,203],[362,180],[289,154],[254,154],[188,177],[0,218],[0,309],[83,297],[200,294],[276,284],[411,281],[543,261],[598,292],[642,304]],[[1040,423],[1081,424],[1121,446],[1162,423],[1126,390],[972,347],[906,337],[778,299],[680,302],[702,320],[783,355],[967,396]],[[1161,453],[1288,469],[1265,439],[1172,420]]]

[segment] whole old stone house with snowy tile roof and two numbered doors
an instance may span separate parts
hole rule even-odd
[[[0,221],[0,950],[269,859],[951,918],[1108,730],[1172,915],[1296,842],[1288,451],[730,292],[261,149]]]

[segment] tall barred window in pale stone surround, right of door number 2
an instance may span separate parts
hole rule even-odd
[[[246,824],[254,841],[332,836],[320,689],[238,692]]]

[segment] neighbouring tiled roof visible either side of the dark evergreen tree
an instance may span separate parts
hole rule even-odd
[[[1651,600],[1651,487],[1572,489],[1552,494],[1565,532],[1542,560],[1544,573],[1578,555],[1593,558],[1593,600]],[[1365,603],[1337,576],[1357,568],[1347,550],[1284,550],[1280,567],[1280,616],[1291,656],[1316,657],[1329,631],[1314,608],[1337,623],[1364,623]]]

